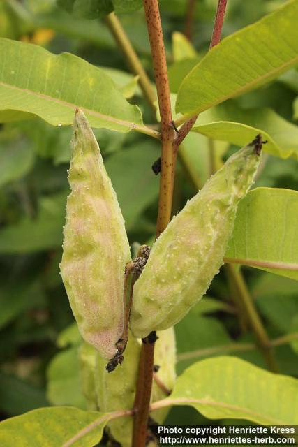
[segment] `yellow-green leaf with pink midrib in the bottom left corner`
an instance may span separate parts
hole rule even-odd
[[[40,408],[0,423],[0,445],[94,447],[113,415],[71,406]]]

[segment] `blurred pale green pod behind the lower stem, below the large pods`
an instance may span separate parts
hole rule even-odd
[[[157,333],[156,350],[154,353],[154,364],[159,366],[156,375],[163,382],[165,387],[172,390],[175,380],[176,348],[174,330],[170,328]],[[131,332],[128,337],[124,362],[110,374],[105,369],[105,362],[98,357],[96,366],[96,390],[98,396],[98,407],[100,411],[110,412],[119,409],[132,409],[135,401],[135,387],[137,383],[137,373],[142,342],[140,339],[132,337]],[[158,383],[154,381],[152,386],[152,402],[166,397],[166,393],[161,390]],[[166,409],[154,411],[151,416],[161,423],[167,414]],[[122,447],[131,447],[131,437],[133,433],[133,418],[125,417],[112,420],[108,424],[112,437],[118,441]]]

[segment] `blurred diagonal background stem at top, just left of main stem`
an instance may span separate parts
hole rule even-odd
[[[154,101],[156,101],[155,91],[133,45],[131,45],[131,41],[128,39],[128,36],[121,25],[120,20],[114,13],[110,13],[107,15],[105,22],[114,36],[120,50],[123,52],[131,71],[139,76],[139,84],[144,93],[144,97],[147,99],[147,103],[149,104],[154,117],[156,117],[156,107],[154,105]]]

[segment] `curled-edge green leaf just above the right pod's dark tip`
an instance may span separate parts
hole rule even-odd
[[[268,140],[263,146],[264,152],[283,159],[289,156],[298,159],[298,126],[269,108],[241,109],[228,101],[203,112],[192,130],[239,146],[262,133],[263,140]]]

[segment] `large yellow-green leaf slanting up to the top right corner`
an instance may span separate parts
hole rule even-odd
[[[260,87],[297,64],[297,15],[298,1],[288,1],[223,39],[182,82],[177,111],[191,117]]]

